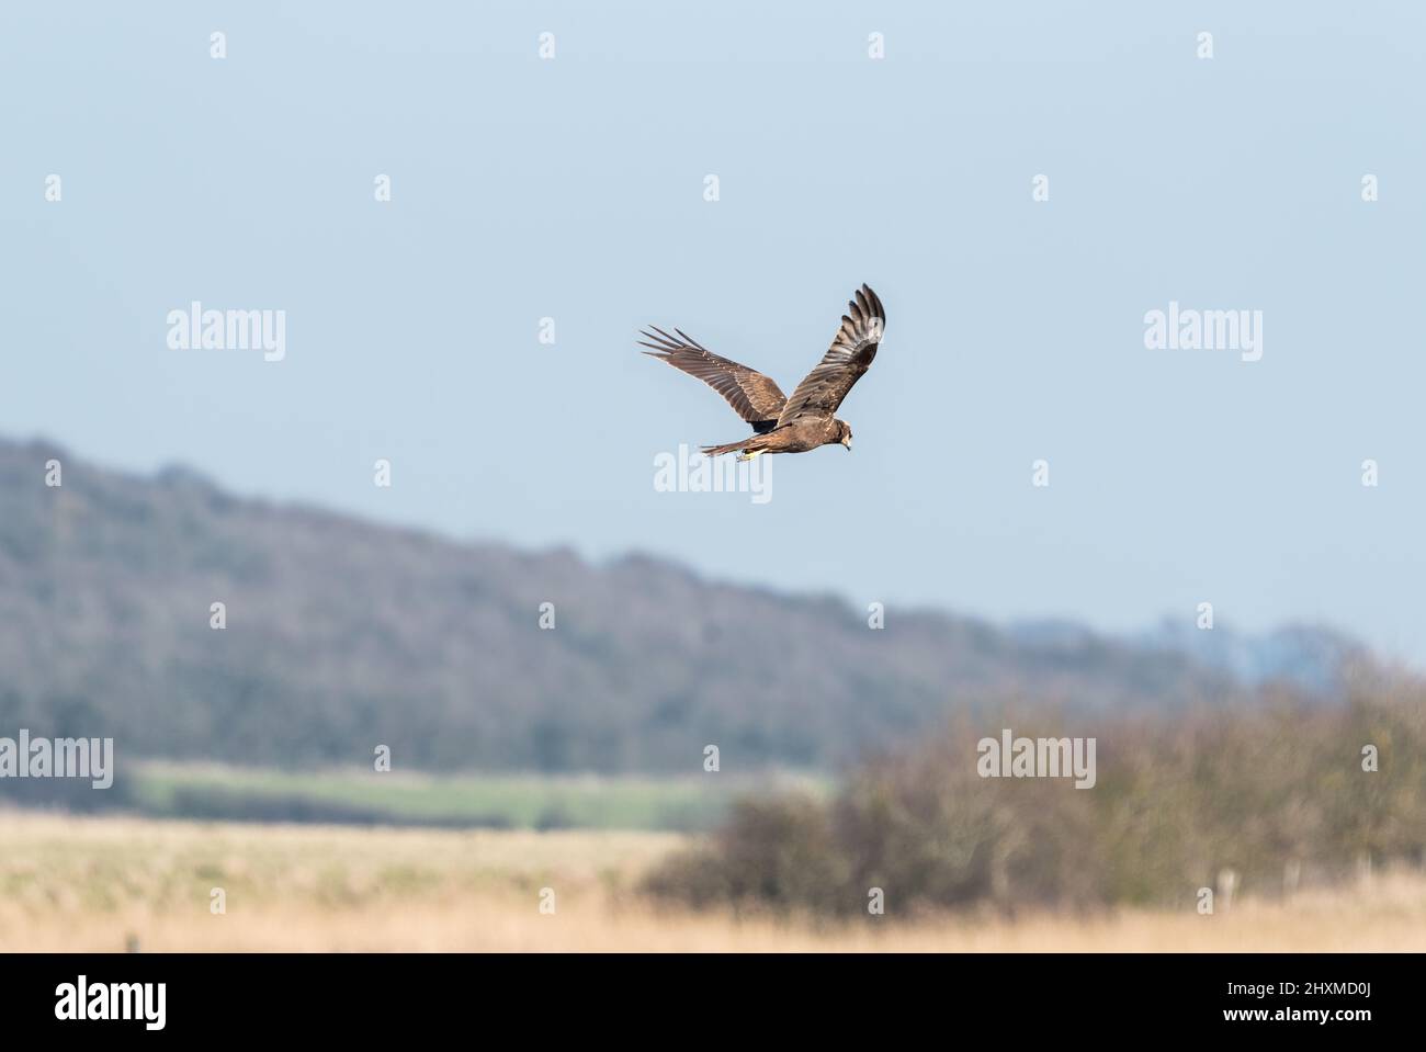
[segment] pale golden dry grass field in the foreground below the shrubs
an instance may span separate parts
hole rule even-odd
[[[0,952],[1423,951],[1426,877],[1214,917],[886,917],[844,927],[656,907],[639,875],[684,838],[88,818],[0,810]],[[222,888],[227,912],[210,911]],[[555,914],[539,912],[542,888]]]

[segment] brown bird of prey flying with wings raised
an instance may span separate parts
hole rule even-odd
[[[753,425],[750,438],[703,446],[703,452],[717,456],[737,449],[739,460],[750,460],[761,453],[806,453],[817,446],[851,449],[851,428],[834,413],[877,356],[886,312],[876,292],[866,285],[857,289],[847,314],[841,315],[831,349],[803,378],[791,398],[783,395],[770,376],[713,354],[682,329],[670,336],[656,325],[650,328],[653,332],[639,334],[650,341],[639,341],[640,346],[652,348],[646,355],[697,376]]]

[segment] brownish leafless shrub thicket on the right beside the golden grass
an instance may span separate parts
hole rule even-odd
[[[1339,707],[1265,698],[1243,711],[1095,717],[1097,784],[981,778],[975,743],[1064,737],[1058,721],[964,714],[945,733],[854,771],[830,801],[744,800],[649,889],[697,907],[900,911],[1191,904],[1224,868],[1276,892],[1292,864],[1320,878],[1426,857],[1422,687]],[[1379,770],[1363,770],[1375,746]]]

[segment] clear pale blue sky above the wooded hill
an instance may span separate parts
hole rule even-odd
[[[4,6],[0,432],[891,613],[1206,600],[1426,660],[1419,4],[288,7]],[[635,331],[790,391],[863,281],[856,450],[655,492],[744,432]],[[170,349],[194,299],[285,311],[285,359]],[[1169,301],[1262,311],[1262,359],[1147,349]]]

